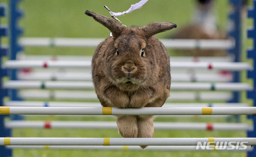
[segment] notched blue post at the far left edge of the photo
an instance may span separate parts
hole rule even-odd
[[[6,16],[6,5],[0,4],[0,18]],[[8,28],[2,27],[0,25],[0,65],[2,65],[2,57],[7,55],[7,48],[2,47],[1,37],[8,35]],[[7,76],[6,69],[0,67],[0,106],[3,106],[4,97],[7,96],[8,92],[6,89],[2,88],[2,78]],[[11,130],[4,128],[4,115],[0,115],[0,137],[10,137]],[[1,157],[10,157],[12,156],[12,150],[7,149],[5,146],[0,146],[0,156]]]

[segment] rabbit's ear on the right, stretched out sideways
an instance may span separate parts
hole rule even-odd
[[[144,31],[145,37],[148,39],[152,35],[155,35],[157,33],[161,33],[163,31],[167,31],[176,27],[177,25],[171,22],[152,22],[146,26],[143,26],[142,30]]]

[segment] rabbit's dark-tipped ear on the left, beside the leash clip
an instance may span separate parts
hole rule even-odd
[[[121,26],[119,22],[112,18],[108,18],[106,16],[90,12],[89,10],[86,10],[84,14],[92,16],[94,20],[96,20],[103,26],[107,27],[111,31],[113,37],[118,37],[124,29],[124,26]]]

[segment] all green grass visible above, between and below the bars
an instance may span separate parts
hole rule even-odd
[[[90,10],[110,17],[103,5],[113,12],[123,12],[131,4],[139,0],[24,0],[20,8],[24,18],[20,26],[24,28],[24,37],[90,37],[106,38],[110,31],[91,17],[84,14]],[[3,0],[1,2],[8,2]],[[218,27],[226,29],[228,0],[215,0],[215,10],[218,12]],[[150,0],[141,9],[135,10],[118,19],[126,26],[145,26],[150,22],[173,22],[178,28],[159,33],[158,38],[164,38],[175,33],[180,27],[190,24],[195,10],[196,0]],[[2,18],[1,23],[8,24],[8,18]],[[4,38],[3,43],[8,43]],[[26,47],[27,55],[92,55],[94,48],[62,48],[62,47]],[[200,102],[200,101],[198,101]],[[26,120],[115,120],[115,118],[61,117],[40,116],[26,117]],[[245,117],[242,120],[247,122]],[[156,118],[164,122],[226,122],[223,118]],[[13,137],[121,137],[117,130],[87,130],[87,129],[14,129]],[[155,137],[246,137],[245,131],[170,131],[156,130]],[[218,151],[94,151],[94,150],[28,150],[15,149],[14,157],[243,157],[245,152]]]

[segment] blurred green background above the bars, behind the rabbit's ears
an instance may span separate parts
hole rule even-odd
[[[84,14],[90,10],[98,14],[110,17],[109,12],[103,7],[108,6],[113,12],[123,12],[130,8],[131,4],[139,0],[24,0],[21,3],[24,10],[24,18],[20,25],[24,27],[26,37],[92,37],[106,38],[110,31]],[[173,22],[178,28],[190,24],[196,9],[196,0],[151,0],[142,8],[118,19],[127,27],[145,26],[150,22]],[[226,29],[228,0],[215,0],[214,12],[218,19],[217,26]],[[165,38],[178,31],[173,29],[159,33],[158,38]],[[88,48],[26,48],[26,54],[44,55],[92,55],[94,49]],[[172,54],[170,54],[172,55]],[[175,54],[176,55],[176,54]]]

